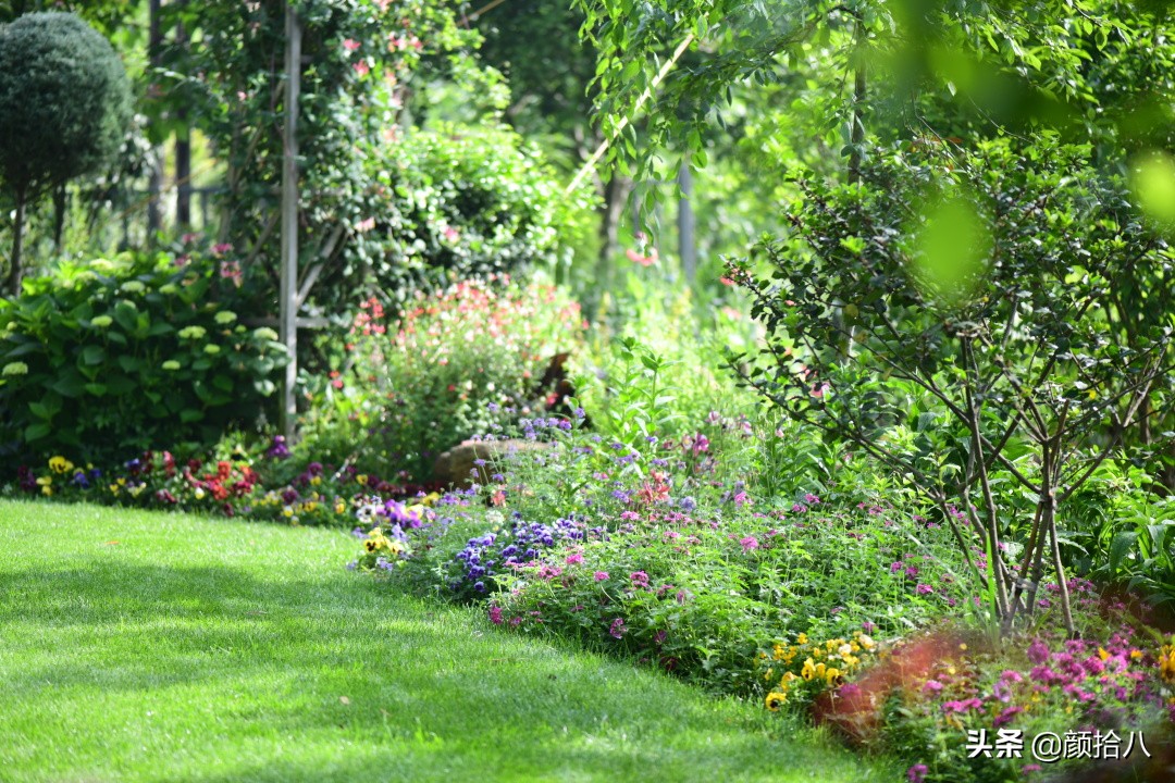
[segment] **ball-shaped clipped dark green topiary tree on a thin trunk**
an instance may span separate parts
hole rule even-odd
[[[20,293],[28,204],[113,160],[129,120],[122,62],[85,21],[35,13],[0,27],[0,175],[16,203],[11,296]]]

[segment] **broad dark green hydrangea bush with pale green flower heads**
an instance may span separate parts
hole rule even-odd
[[[270,329],[208,301],[214,266],[167,255],[63,265],[0,302],[0,444],[93,461],[212,443],[284,364]]]

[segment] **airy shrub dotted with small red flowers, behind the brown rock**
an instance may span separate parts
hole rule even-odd
[[[442,451],[505,409],[543,410],[539,379],[556,353],[577,346],[580,323],[579,306],[553,286],[506,277],[419,293],[398,317],[369,299],[351,330],[351,365],[308,421],[308,447],[354,451],[362,440],[364,466],[428,479]]]

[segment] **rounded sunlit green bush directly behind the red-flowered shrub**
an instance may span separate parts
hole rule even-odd
[[[347,250],[348,265],[369,269],[390,296],[454,276],[555,268],[586,230],[586,191],[565,194],[540,153],[506,128],[444,126],[392,150],[371,171]]]

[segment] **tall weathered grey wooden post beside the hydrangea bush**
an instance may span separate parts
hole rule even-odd
[[[286,123],[282,130],[282,259],[278,319],[282,345],[289,352],[282,383],[281,427],[287,440],[294,437],[297,407],[297,101],[302,68],[302,23],[286,4]]]

